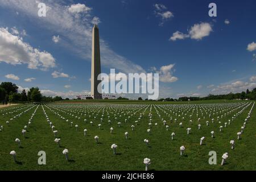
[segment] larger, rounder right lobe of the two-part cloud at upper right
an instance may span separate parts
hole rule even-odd
[[[209,23],[194,24],[189,31],[191,39],[201,40],[205,36],[209,36],[212,31],[212,27]]]

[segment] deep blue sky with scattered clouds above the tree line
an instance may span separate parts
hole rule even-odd
[[[47,96],[89,93],[98,23],[102,72],[158,72],[159,97],[256,87],[255,1],[42,0],[46,17],[38,2],[0,2],[0,81]],[[210,2],[217,17],[208,15]]]

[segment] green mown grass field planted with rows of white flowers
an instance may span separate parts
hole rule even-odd
[[[241,131],[253,103],[219,101],[209,104],[207,101],[200,101],[175,105],[165,102],[163,105],[158,102],[61,102],[2,108],[0,170],[144,170],[144,158],[151,159],[151,170],[255,170],[255,106],[241,139],[237,139],[237,133]],[[54,142],[55,136],[43,109],[55,126],[54,130],[58,131],[57,138],[60,138],[61,147]],[[25,125],[28,126],[34,112],[26,137],[23,137],[22,130]],[[20,113],[20,117],[16,116]],[[152,125],[148,133],[150,113]],[[237,117],[232,121],[236,114]],[[230,125],[225,127],[225,122],[229,119]],[[9,126],[6,121],[10,122]],[[135,121],[138,121],[138,125]],[[168,131],[163,121],[169,126]],[[206,121],[209,121],[209,126]],[[118,122],[121,122],[120,127]],[[182,127],[179,126],[180,122],[183,123]],[[98,124],[101,124],[100,129]],[[75,125],[78,125],[77,131]],[[131,125],[135,126],[134,131],[131,130]],[[220,126],[223,126],[221,132]],[[114,129],[112,134],[110,127]],[[188,127],[191,128],[189,135]],[[84,129],[88,130],[86,136]],[[214,131],[214,138],[210,135],[211,131]],[[125,132],[129,133],[128,139],[125,138]],[[175,137],[171,140],[173,132]],[[94,140],[96,135],[99,137],[98,143]],[[205,137],[202,146],[201,137]],[[22,147],[18,147],[15,138],[21,140]],[[149,140],[148,146],[143,142],[144,139]],[[234,150],[231,150],[229,143],[232,139],[236,142]],[[118,146],[116,155],[110,148],[113,143]],[[183,156],[180,156],[181,146],[185,146]],[[69,161],[62,153],[65,148],[69,151]],[[16,163],[10,155],[13,150],[16,151]],[[46,152],[46,165],[38,164],[39,151]],[[216,165],[208,163],[209,151],[217,152]],[[221,156],[225,152],[228,152],[229,158],[221,166]]]

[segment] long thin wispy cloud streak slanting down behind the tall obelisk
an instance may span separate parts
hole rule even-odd
[[[90,14],[85,14],[77,18],[76,15],[74,16],[73,13],[69,12],[68,9],[71,6],[58,3],[60,1],[45,0],[44,2],[49,7],[47,18],[38,17],[38,3],[35,1],[0,1],[0,6],[19,11],[25,17],[34,19],[34,26],[46,28],[46,30],[60,35],[63,42],[65,40],[62,46],[67,47],[82,59],[91,61],[92,17]],[[71,9],[71,11],[77,12],[75,9]],[[101,39],[101,63],[103,66],[115,68],[124,73],[145,72],[141,66],[114,52],[104,39]]]

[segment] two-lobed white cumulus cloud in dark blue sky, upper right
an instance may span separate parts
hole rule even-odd
[[[201,40],[205,36],[209,36],[212,32],[212,26],[210,23],[194,24],[188,31],[188,34],[183,34],[179,31],[174,32],[169,40],[175,41],[177,39],[191,38],[195,40]]]

